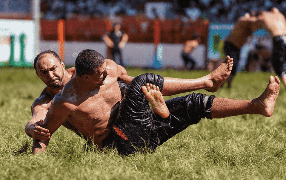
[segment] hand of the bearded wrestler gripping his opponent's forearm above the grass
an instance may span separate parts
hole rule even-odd
[[[47,140],[50,139],[49,130],[42,128],[41,125],[43,124],[43,120],[39,120],[34,124],[30,125],[30,134],[33,136],[34,139],[39,140]]]

